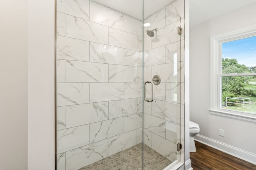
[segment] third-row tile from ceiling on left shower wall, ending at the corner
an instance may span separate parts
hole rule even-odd
[[[124,65],[142,67],[142,52],[124,49]]]

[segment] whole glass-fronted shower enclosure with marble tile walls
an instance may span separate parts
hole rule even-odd
[[[56,23],[57,170],[182,166],[184,0],[57,0]]]

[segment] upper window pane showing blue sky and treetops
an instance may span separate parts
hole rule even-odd
[[[222,73],[256,72],[256,36],[222,43]]]

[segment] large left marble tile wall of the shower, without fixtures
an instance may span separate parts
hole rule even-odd
[[[77,170],[142,142],[142,21],[89,0],[57,11],[57,167]]]

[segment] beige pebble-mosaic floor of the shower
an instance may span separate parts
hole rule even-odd
[[[162,170],[172,162],[144,144],[144,170]],[[142,170],[142,143],[79,170]]]

